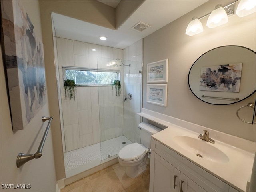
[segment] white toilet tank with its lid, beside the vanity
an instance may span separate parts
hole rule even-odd
[[[146,122],[142,122],[139,124],[140,128],[140,142],[148,149],[150,149],[150,139],[151,135],[161,131],[160,128],[151,125]]]

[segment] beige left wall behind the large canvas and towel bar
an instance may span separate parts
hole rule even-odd
[[[38,1],[22,1],[22,5],[34,25],[36,38],[42,42],[40,10]],[[49,116],[48,103],[36,114],[24,130],[12,132],[12,122],[8,105],[4,65],[1,52],[1,185],[30,184],[30,191],[55,191],[56,174],[52,146],[52,134],[48,132],[39,159],[31,160],[21,168],[16,167],[18,153],[35,153],[38,149],[47,123],[42,123],[42,116]],[[54,121],[54,120],[53,120]],[[52,129],[52,127],[51,127]],[[10,191],[28,191],[12,189]],[[1,189],[4,191],[4,189]]]

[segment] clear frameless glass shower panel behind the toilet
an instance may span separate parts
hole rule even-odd
[[[121,90],[111,84],[98,84],[100,149],[103,162],[117,157],[118,152],[133,142],[140,143],[137,131],[142,99],[142,63],[97,57],[97,70],[116,73]],[[129,66],[130,65],[130,66]],[[112,79],[114,81],[114,79]],[[132,97],[128,98],[128,94]]]

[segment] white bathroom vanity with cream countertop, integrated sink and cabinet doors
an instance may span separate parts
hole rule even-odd
[[[167,127],[151,138],[150,191],[248,191],[255,142],[143,111],[140,116]],[[214,144],[198,138],[202,129]]]

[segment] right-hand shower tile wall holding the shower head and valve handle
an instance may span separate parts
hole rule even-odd
[[[130,72],[129,67],[124,67],[124,95],[129,92],[132,94],[132,100],[124,102],[124,136],[132,142],[140,143],[140,116],[137,113],[142,107],[142,73],[139,71],[142,71],[143,39],[125,48],[123,54],[125,64],[131,64]]]

